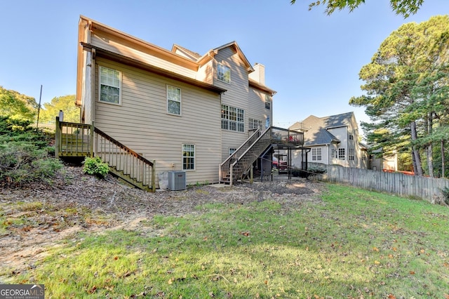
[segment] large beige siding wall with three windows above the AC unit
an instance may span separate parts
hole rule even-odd
[[[149,160],[156,173],[182,170],[182,144],[196,147],[196,169],[187,183],[217,182],[221,162],[220,95],[98,59],[122,72],[121,105],[95,100],[95,126]],[[98,74],[98,66],[97,66]],[[181,88],[182,116],[167,114],[166,85]],[[98,77],[95,83],[98,98]]]

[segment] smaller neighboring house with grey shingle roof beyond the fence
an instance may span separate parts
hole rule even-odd
[[[353,168],[368,168],[366,146],[358,142],[358,126],[354,112],[315,117],[311,115],[296,122],[290,129],[304,131],[304,147],[309,147],[307,161],[321,164],[339,164]],[[293,164],[300,165],[300,153]]]

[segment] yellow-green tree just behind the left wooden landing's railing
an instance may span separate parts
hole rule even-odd
[[[75,95],[64,95],[43,103],[45,109],[41,110],[42,123],[54,124],[60,110],[64,112],[64,121],[79,122],[79,108],[75,105]]]

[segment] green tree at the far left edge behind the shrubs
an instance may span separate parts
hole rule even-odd
[[[37,106],[34,98],[0,86],[0,116],[8,116],[11,119],[24,121],[34,121]]]

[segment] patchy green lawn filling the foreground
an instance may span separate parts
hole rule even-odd
[[[448,297],[448,208],[339,185],[322,199],[205,204],[78,234],[11,282],[45,284],[48,298]]]

